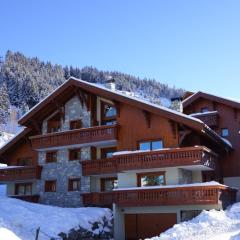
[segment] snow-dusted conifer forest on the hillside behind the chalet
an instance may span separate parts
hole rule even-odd
[[[29,58],[20,52],[7,51],[0,58],[0,130],[15,132],[17,119],[70,76],[102,84],[111,76],[118,90],[132,92],[160,105],[164,99],[179,97],[184,92],[155,79],[140,79],[118,71],[101,71],[92,66],[54,65],[37,57]]]

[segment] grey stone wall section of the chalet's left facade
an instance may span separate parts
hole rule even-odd
[[[71,120],[81,119],[83,127],[90,126],[90,113],[86,106],[82,106],[77,97],[73,97],[65,104],[65,117],[62,119],[61,130],[69,130]],[[42,132],[47,132],[47,119],[43,121]],[[81,148],[81,160],[91,159],[90,147]],[[69,161],[69,149],[57,150],[57,162],[46,163],[46,152],[39,152],[38,163],[42,166],[41,180],[37,183],[40,203],[62,207],[82,206],[81,193],[90,192],[90,177],[82,176],[82,166],[78,160]],[[80,178],[80,191],[69,192],[69,178]],[[45,192],[45,181],[56,180],[56,192]]]

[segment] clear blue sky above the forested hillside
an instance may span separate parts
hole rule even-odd
[[[240,99],[238,0],[1,0],[0,55]]]

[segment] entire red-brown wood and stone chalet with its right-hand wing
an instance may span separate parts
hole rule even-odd
[[[158,235],[239,187],[240,104],[196,93],[184,113],[70,78],[20,120],[0,149],[10,197],[114,212],[114,239]]]

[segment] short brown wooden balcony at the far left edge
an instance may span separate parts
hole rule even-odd
[[[9,166],[0,169],[0,182],[40,179],[40,166],[13,167]]]

